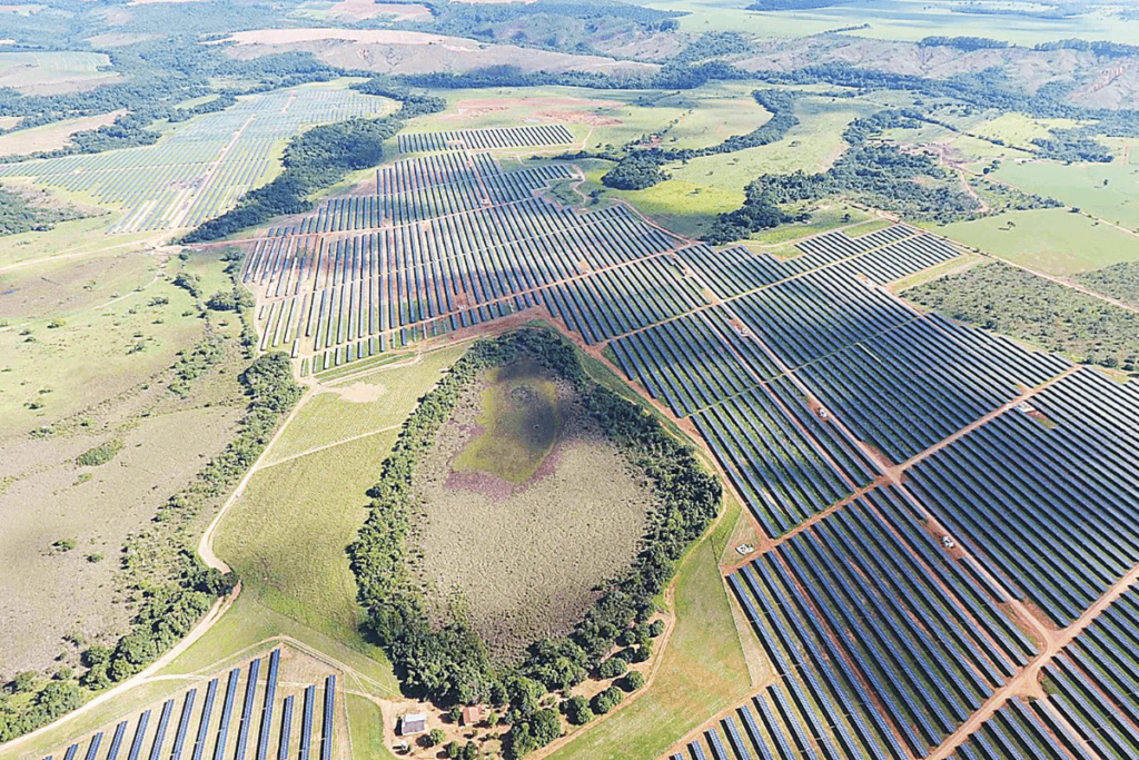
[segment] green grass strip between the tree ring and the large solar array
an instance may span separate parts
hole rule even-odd
[[[715,531],[689,551],[678,574],[675,630],[652,686],[550,758],[652,760],[710,716],[747,696],[753,684],[716,563],[738,509],[729,504]]]

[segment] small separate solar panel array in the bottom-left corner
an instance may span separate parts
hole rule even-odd
[[[48,757],[74,759],[82,751],[89,760],[246,755],[265,760],[293,754],[347,760],[343,688],[337,688],[335,672],[319,678],[312,670],[308,657],[276,648],[265,659],[202,678],[195,687]],[[304,686],[298,678],[317,683]]]

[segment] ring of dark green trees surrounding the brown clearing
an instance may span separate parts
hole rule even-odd
[[[601,589],[585,620],[564,638],[536,641],[524,663],[503,671],[491,667],[482,640],[460,611],[443,624],[432,624],[409,565],[408,544],[416,514],[411,496],[416,466],[450,418],[461,390],[487,368],[522,358],[576,386],[589,414],[645,473],[657,506],[632,566]],[[655,417],[590,381],[568,342],[551,330],[526,328],[480,341],[454,363],[404,423],[369,496],[367,522],[349,548],[366,628],[411,693],[444,704],[490,701],[507,706],[513,724],[507,752],[522,757],[557,736],[538,709],[546,693],[580,684],[614,643],[629,645],[630,657],[648,656],[652,631],[646,623],[655,608],[653,597],[715,517],[721,485]]]

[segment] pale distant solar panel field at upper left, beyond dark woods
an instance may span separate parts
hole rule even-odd
[[[151,146],[0,164],[0,177],[32,178],[121,209],[108,232],[196,227],[271,180],[285,140],[302,128],[378,115],[386,104],[330,88],[255,95],[192,119]]]

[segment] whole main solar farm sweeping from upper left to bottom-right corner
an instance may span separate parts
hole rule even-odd
[[[961,255],[895,224],[714,251],[408,134],[375,191],[251,244],[262,349],[350,371],[524,312],[702,440],[761,540],[726,582],[777,678],[680,758],[1139,757],[1139,386],[916,311]],[[603,353],[604,351],[604,353]],[[346,365],[346,367],[345,367]]]

